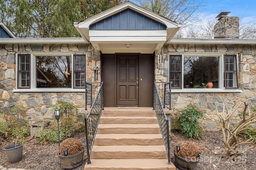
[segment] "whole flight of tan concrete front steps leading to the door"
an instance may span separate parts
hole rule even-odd
[[[176,170],[151,107],[105,107],[84,170]]]

